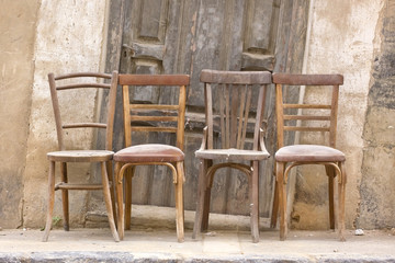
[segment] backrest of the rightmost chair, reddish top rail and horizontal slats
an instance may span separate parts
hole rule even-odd
[[[284,146],[284,132],[319,132],[329,134],[329,146],[336,147],[339,85],[342,75],[290,75],[273,73],[275,84],[275,108],[278,127],[278,148]],[[302,85],[314,89],[331,89],[331,98],[326,103],[286,103],[283,94],[290,87]],[[328,92],[319,94],[328,96]]]

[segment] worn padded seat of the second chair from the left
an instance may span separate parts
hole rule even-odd
[[[174,146],[146,144],[124,148],[114,155],[117,162],[179,162],[184,153]]]

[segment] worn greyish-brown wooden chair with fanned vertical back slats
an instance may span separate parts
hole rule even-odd
[[[232,168],[248,176],[251,235],[252,241],[258,242],[259,161],[269,158],[262,124],[266,87],[271,83],[271,73],[202,70],[201,82],[204,82],[206,127],[201,148],[195,152],[200,160],[200,172],[192,238],[195,239],[198,233],[208,228],[211,188],[215,172],[222,168]],[[218,146],[214,144],[215,134],[221,137]]]

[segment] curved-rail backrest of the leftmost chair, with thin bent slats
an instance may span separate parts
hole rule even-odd
[[[115,111],[115,99],[116,99],[116,87],[117,87],[117,72],[114,71],[112,75],[109,73],[95,73],[95,72],[76,72],[61,76],[55,76],[54,73],[48,75],[49,88],[50,88],[50,98],[53,102],[54,113],[55,113],[55,123],[56,132],[58,138],[58,148],[59,150],[66,150],[64,135],[67,129],[75,128],[100,128],[105,129],[105,150],[112,150],[112,136],[113,136],[113,124],[114,124],[114,111]],[[87,113],[83,111],[83,105],[74,102],[75,104],[68,104],[67,107],[77,107],[79,116],[72,116],[72,119],[83,119],[84,122],[72,121],[70,123],[63,123],[61,113],[59,105],[59,95],[60,92],[67,92],[67,90],[78,91],[78,96],[84,96],[82,90],[87,89],[103,89],[109,90],[109,100],[108,100],[108,116],[105,123],[99,123],[87,119],[83,119],[87,116]],[[97,98],[97,96],[94,96]],[[81,108],[80,108],[81,107]]]

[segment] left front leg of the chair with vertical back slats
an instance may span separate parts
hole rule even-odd
[[[198,233],[202,231],[202,220],[203,220],[203,209],[205,203],[205,192],[206,192],[206,160],[200,160],[200,171],[199,171],[199,183],[198,183],[198,204],[195,220],[193,225],[192,239],[195,239]]]

